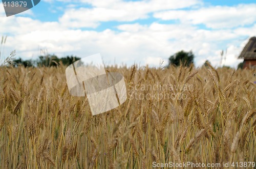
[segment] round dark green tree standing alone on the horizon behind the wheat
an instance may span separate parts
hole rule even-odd
[[[189,66],[190,64],[194,63],[194,58],[195,55],[191,50],[189,52],[181,50],[170,56],[169,65],[173,64],[175,66]]]

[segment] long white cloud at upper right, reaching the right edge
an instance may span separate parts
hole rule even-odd
[[[205,24],[213,29],[223,29],[254,23],[255,11],[256,4],[246,4],[234,7],[214,6],[197,10],[170,10],[156,12],[154,17],[163,20],[179,19],[182,23]]]

